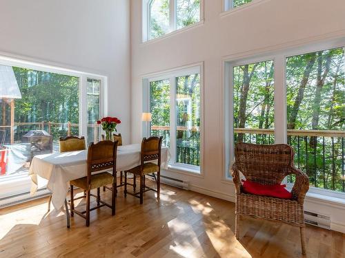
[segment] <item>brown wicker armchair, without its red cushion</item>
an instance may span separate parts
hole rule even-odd
[[[236,187],[235,235],[239,239],[239,219],[249,215],[298,226],[301,233],[302,253],[306,253],[304,197],[309,189],[308,175],[295,169],[294,151],[287,144],[257,145],[238,143],[232,167]],[[295,175],[292,200],[243,193],[240,173],[246,180],[260,184],[281,184],[287,175]]]

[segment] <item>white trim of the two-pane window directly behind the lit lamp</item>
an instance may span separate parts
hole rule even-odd
[[[176,160],[176,109],[175,109],[175,78],[185,76],[186,74],[199,74],[200,76],[200,166],[190,164],[181,164],[175,162]],[[150,112],[150,82],[156,80],[170,80],[170,153],[171,158],[168,165],[168,171],[183,172],[188,174],[195,174],[204,176],[204,63],[197,63],[188,65],[186,67],[179,67],[170,69],[164,72],[148,74],[142,77],[143,82],[143,112]],[[174,107],[174,108],[172,108]],[[148,136],[150,125],[148,123],[142,125],[142,136]]]

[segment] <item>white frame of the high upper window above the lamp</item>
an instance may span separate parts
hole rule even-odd
[[[164,39],[167,36],[175,35],[175,32],[183,32],[189,30],[190,28],[195,28],[198,25],[204,24],[204,0],[200,0],[199,8],[199,21],[190,24],[184,28],[177,29],[177,14],[176,14],[176,0],[169,0],[169,31],[155,39],[150,39],[150,3],[152,0],[142,0],[142,26],[141,26],[141,38],[142,43],[157,41],[159,39]]]

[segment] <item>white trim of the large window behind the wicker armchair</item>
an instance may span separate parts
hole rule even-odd
[[[233,155],[233,87],[232,87],[232,70],[234,66],[244,65],[247,63],[257,63],[261,61],[273,60],[275,65],[275,143],[286,143],[287,125],[286,125],[286,58],[311,52],[328,50],[337,47],[345,47],[345,38],[331,41],[322,41],[319,43],[309,43],[298,47],[290,47],[286,50],[273,50],[270,54],[251,55],[244,54],[235,58],[224,58],[222,65],[224,67],[224,147],[223,162],[224,171],[222,182],[233,184],[233,179],[228,176],[230,168],[234,161]],[[279,103],[279,105],[278,105]],[[283,105],[282,105],[283,103]],[[293,184],[288,184],[288,188]],[[307,196],[323,196],[325,200],[344,199],[345,193],[319,189],[314,186],[309,188]]]

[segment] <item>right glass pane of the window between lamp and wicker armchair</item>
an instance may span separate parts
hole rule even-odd
[[[176,162],[200,165],[200,76],[176,78]]]

